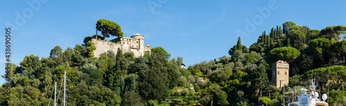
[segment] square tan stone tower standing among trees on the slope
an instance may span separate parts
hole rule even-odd
[[[283,87],[289,85],[289,63],[286,61],[276,61],[271,66],[272,84],[275,87]]]

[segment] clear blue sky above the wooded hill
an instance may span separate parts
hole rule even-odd
[[[3,28],[9,23],[17,26],[15,30],[12,27],[11,39],[11,63],[17,65],[26,55],[48,56],[56,45],[64,50],[82,44],[85,36],[95,34],[98,19],[118,23],[124,36],[143,34],[145,45],[161,46],[172,54],[171,58],[183,57],[185,65],[229,56],[228,50],[237,43],[238,36],[242,37],[242,44],[249,47],[264,30],[270,32],[272,27],[285,21],[318,30],[331,25],[346,25],[346,1],[28,2],[35,4],[3,1],[0,6],[0,25]],[[20,17],[25,21],[19,21]],[[5,30],[1,32],[5,33]],[[236,32],[242,32],[242,35]],[[5,36],[0,44],[3,44],[0,46],[3,50],[0,67],[4,69]],[[5,70],[0,74],[5,74]],[[4,82],[5,79],[0,78],[0,83]]]

